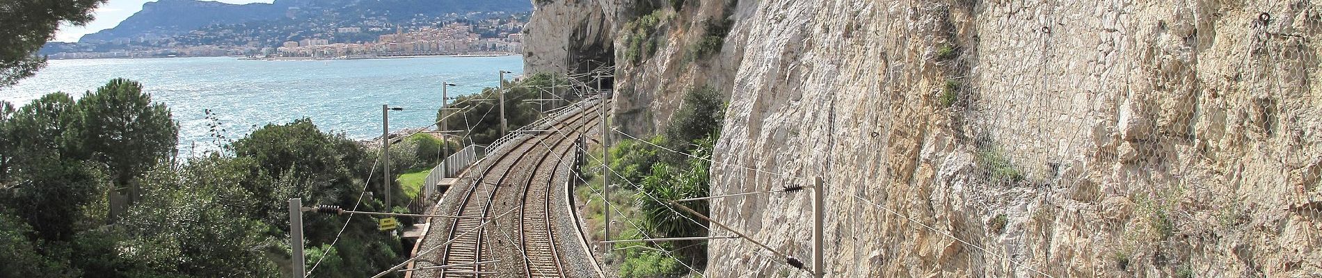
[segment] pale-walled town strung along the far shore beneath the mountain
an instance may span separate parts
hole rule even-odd
[[[504,55],[524,49],[526,14],[508,18],[345,25],[208,26],[178,36],[48,45],[49,59],[246,57],[253,59],[361,59],[412,55]],[[270,30],[279,29],[279,30]],[[272,36],[276,33],[296,36]]]

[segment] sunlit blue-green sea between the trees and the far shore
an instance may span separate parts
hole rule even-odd
[[[143,83],[153,101],[171,108],[180,124],[180,157],[188,157],[223,144],[212,134],[208,109],[221,123],[223,132],[218,133],[226,140],[303,117],[312,119],[321,130],[368,140],[381,136],[381,104],[405,108],[390,112],[391,130],[428,126],[442,105],[442,82],[459,84],[449,87],[449,96],[477,94],[497,86],[500,70],[521,75],[524,58],[66,59],[50,61],[36,76],[0,88],[0,100],[21,107],[57,91],[81,97],[110,79],[128,78]]]

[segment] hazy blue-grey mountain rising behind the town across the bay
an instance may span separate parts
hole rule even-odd
[[[79,42],[169,37],[212,24],[242,24],[300,16],[382,16],[390,20],[405,20],[416,14],[517,13],[531,9],[531,0],[276,0],[272,4],[243,5],[198,0],[159,0],[143,4],[143,11],[134,13],[118,26],[83,36]]]

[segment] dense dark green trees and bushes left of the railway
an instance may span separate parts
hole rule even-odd
[[[371,158],[303,119],[177,161],[169,108],[124,79],[78,101],[63,92],[17,109],[0,101],[0,277],[282,275],[286,202],[352,207]],[[143,195],[110,223],[111,188],[123,181]],[[385,207],[361,202],[364,211]],[[374,217],[356,216],[341,233],[345,217],[304,216],[308,265],[327,258],[317,277],[366,277],[398,262],[405,248]]]

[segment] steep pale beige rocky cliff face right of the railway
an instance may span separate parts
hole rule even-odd
[[[701,7],[617,65],[617,123],[727,91],[711,194],[821,177],[830,277],[1322,275],[1322,5]],[[714,14],[734,18],[724,46],[686,61]],[[812,265],[809,192],[711,216]],[[709,250],[710,277],[801,273],[742,240]]]

